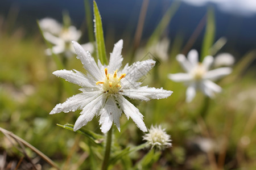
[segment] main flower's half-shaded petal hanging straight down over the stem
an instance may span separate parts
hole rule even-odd
[[[121,117],[122,111],[117,107],[113,97],[109,97],[106,101],[104,108],[100,112],[100,125],[102,133],[107,133],[111,128],[113,121],[120,131],[119,118]]]

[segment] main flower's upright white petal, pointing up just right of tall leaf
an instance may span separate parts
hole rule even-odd
[[[122,66],[123,57],[121,55],[123,48],[123,40],[119,40],[115,45],[113,52],[110,53],[109,59],[109,73],[113,73],[115,70]]]

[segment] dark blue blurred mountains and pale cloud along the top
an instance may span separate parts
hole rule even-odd
[[[143,1],[98,1],[101,10],[102,22],[105,32],[113,32],[115,39],[126,39],[127,32],[134,35],[137,28],[139,14]],[[172,0],[149,1],[144,21],[142,40],[152,34],[164,12],[171,6]],[[256,5],[253,0],[180,0],[175,15],[167,28],[167,35],[174,39],[182,35],[185,44],[202,19],[209,7],[214,8],[216,17],[216,37],[226,37],[225,48],[239,57],[256,46]],[[92,11],[92,3],[90,3]],[[84,1],[68,0],[2,0],[0,14],[13,23],[13,27],[23,27],[28,36],[38,33],[36,19],[51,17],[62,21],[63,10],[68,11],[72,23],[81,27],[85,21]],[[193,48],[199,50],[204,31],[196,40]]]

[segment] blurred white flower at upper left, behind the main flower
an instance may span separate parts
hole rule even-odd
[[[52,53],[64,53],[66,57],[71,57],[75,54],[72,41],[78,41],[81,37],[81,31],[77,30],[73,25],[63,27],[56,20],[44,18],[39,21],[39,26],[42,29],[44,38],[53,44],[52,49],[46,49],[46,54],[50,56]],[[93,44],[88,42],[82,45],[84,49],[93,52]]]

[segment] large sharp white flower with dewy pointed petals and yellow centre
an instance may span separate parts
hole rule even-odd
[[[82,92],[68,98],[62,104],[57,104],[50,114],[81,109],[74,131],[85,126],[94,116],[100,116],[101,131],[106,133],[113,122],[120,131],[119,118],[123,112],[127,118],[133,119],[139,129],[147,131],[143,122],[143,115],[124,96],[148,101],[166,98],[172,94],[172,91],[162,88],[141,87],[141,83],[137,82],[154,67],[155,61],[152,59],[138,61],[131,66],[126,65],[120,69],[123,60],[121,56],[123,40],[119,40],[114,45],[113,52],[110,53],[109,65],[103,66],[100,61],[97,64],[90,53],[85,52],[77,42],[73,41],[73,45],[77,58],[81,60],[87,74],[82,74],[77,70],[58,70],[53,74],[78,84],[82,87],[80,88]]]

